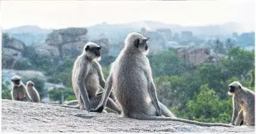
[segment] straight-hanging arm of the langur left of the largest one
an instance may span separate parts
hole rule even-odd
[[[85,103],[85,108],[87,108],[87,110],[90,109],[90,100],[87,94],[87,90],[85,88],[85,76],[87,75],[86,72],[84,72],[84,68],[85,71],[87,71],[87,66],[81,66],[80,68],[78,68],[78,76],[77,76],[77,87],[78,90],[80,91],[80,96],[82,97],[82,101]]]

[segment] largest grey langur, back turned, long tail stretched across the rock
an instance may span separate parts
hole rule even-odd
[[[146,57],[148,53],[146,41],[148,38],[140,33],[128,34],[125,38],[125,47],[111,66],[104,97],[98,107],[91,111],[102,112],[113,87],[123,117],[138,120],[174,120],[203,126],[232,126],[176,118],[165,105],[159,102],[153,83],[151,66]]]

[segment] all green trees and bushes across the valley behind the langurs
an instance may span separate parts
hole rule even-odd
[[[251,35],[251,34],[250,34]],[[179,36],[174,34],[174,36]],[[237,36],[238,41],[245,35]],[[190,38],[190,37],[189,37]],[[192,38],[192,37],[191,37]],[[239,42],[228,38],[207,41],[215,53],[224,57],[217,63],[202,63],[191,66],[189,61],[178,58],[177,51],[169,50],[148,55],[156,85],[158,99],[180,118],[199,120],[212,123],[229,123],[232,116],[232,100],[227,95],[227,85],[240,81],[245,87],[255,90],[255,53],[240,47]],[[236,45],[239,43],[238,45]],[[250,42],[241,46],[248,46]],[[49,91],[51,100],[74,100],[71,72],[76,56],[50,61],[47,57],[30,53],[33,48],[27,48],[29,65],[19,64],[15,69],[32,69],[43,71],[52,83],[63,83],[67,88],[57,88]],[[110,71],[113,56],[104,56],[100,64],[103,66],[105,78]],[[33,80],[36,81],[36,80]],[[38,81],[37,81],[38,82]],[[2,83],[2,98],[10,99],[10,83]],[[39,93],[44,93],[42,83],[37,83]]]

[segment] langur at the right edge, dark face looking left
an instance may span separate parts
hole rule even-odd
[[[238,81],[229,84],[229,95],[233,96],[232,125],[255,125],[255,93]],[[241,107],[241,110],[240,110]]]

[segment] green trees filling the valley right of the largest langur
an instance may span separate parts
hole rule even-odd
[[[227,86],[233,81],[240,81],[243,86],[254,90],[255,58],[254,53],[237,47],[230,47],[227,53],[227,57],[220,62],[202,63],[196,68],[174,63],[175,68],[184,68],[181,74],[176,73],[175,76],[170,74],[171,68],[161,70],[165,64],[158,65],[161,63],[154,61],[154,57],[162,53],[153,55],[151,66],[157,66],[152,67],[152,72],[156,73],[154,83],[158,99],[180,118],[229,123],[232,99],[227,95]],[[169,59],[163,57],[156,59]],[[159,71],[161,74],[158,74]]]

